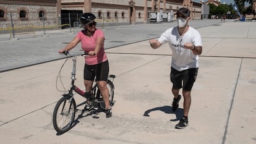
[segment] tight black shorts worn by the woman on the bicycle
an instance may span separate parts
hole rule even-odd
[[[96,76],[97,81],[106,81],[108,79],[108,72],[108,61],[95,65],[85,64],[85,68],[83,69],[83,79],[92,81]]]

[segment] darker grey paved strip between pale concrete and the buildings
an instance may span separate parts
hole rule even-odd
[[[220,20],[210,19],[193,20],[191,25],[199,28],[220,22]],[[104,27],[103,30],[106,35],[105,48],[114,48],[124,44],[156,38],[164,30],[174,25],[176,25],[176,22]],[[79,30],[46,30],[46,35],[44,32],[35,32],[36,38],[33,38],[34,35],[16,35],[14,40],[9,40],[9,34],[0,35],[0,72],[61,59],[62,56],[56,54],[56,51],[64,48]],[[75,50],[79,51],[79,49],[80,46],[77,46]]]

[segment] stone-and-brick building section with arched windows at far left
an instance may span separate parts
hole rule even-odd
[[[0,0],[0,27],[14,24],[33,23],[35,26],[60,23],[60,2],[57,0]]]

